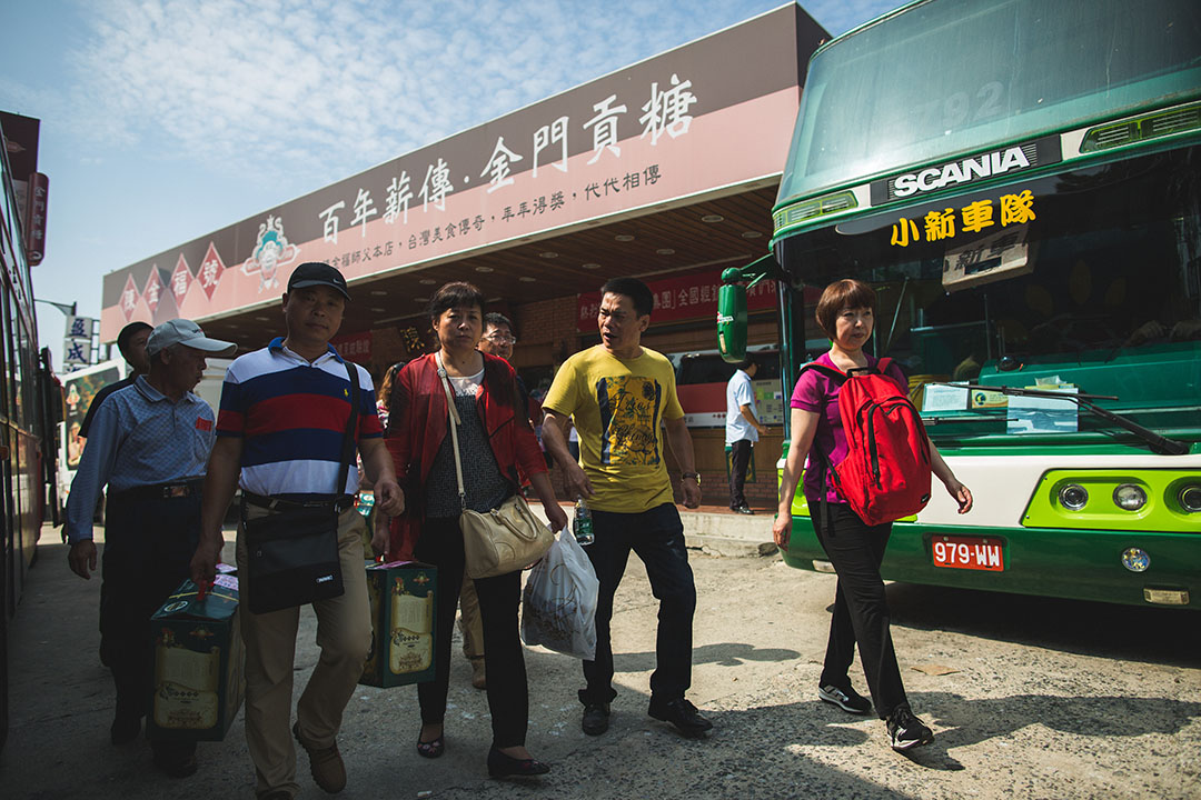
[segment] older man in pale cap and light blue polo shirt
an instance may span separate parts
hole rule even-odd
[[[192,393],[205,356],[237,344],[211,339],[187,319],[154,329],[150,372],[113,392],[96,410],[88,447],[67,500],[67,560],[90,578],[96,570],[91,517],[108,486],[102,661],[116,684],[114,745],[137,738],[150,697],[150,616],[189,577],[201,530],[201,486],[216,437],[213,409]],[[196,771],[195,744],[154,742],[154,763],[173,777]]]

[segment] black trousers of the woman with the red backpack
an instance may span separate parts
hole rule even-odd
[[[809,507],[815,510],[818,505],[811,504]],[[849,685],[847,670],[855,657],[858,643],[872,703],[884,720],[896,706],[908,703],[892,650],[889,602],[880,578],[880,561],[884,560],[892,523],[866,525],[850,506],[841,503],[831,503],[826,509],[831,530],[823,531],[817,519],[813,521],[813,529],[838,573],[838,588],[830,619],[821,685],[833,684],[839,688]]]

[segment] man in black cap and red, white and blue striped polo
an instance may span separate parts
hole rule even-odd
[[[309,753],[313,781],[325,792],[346,784],[337,752],[342,711],[363,672],[371,645],[366,577],[363,570],[363,516],[351,499],[358,491],[352,459],[342,470],[342,439],[351,411],[347,365],[329,344],[349,300],[346,279],[328,264],[306,263],[288,279],[283,295],[287,336],[232,365],[221,391],[217,441],[209,459],[201,522],[202,542],[192,560],[197,581],[211,581],[223,539],[221,521],[240,486],[244,500],[330,501],[339,510],[339,557],[345,591],[313,603],[321,658],[297,704],[289,732],[292,669],[300,609],[247,613],[241,632],[246,643],[246,741],[257,774],[257,794],[269,800],[294,798],[295,748]],[[371,377],[354,366],[359,383],[355,440],[363,467],[375,483],[381,509],[404,511],[392,458],[383,444]],[[240,476],[240,477],[239,477]],[[335,489],[336,487],[336,489]],[[250,516],[269,513],[257,505]],[[382,552],[383,537],[372,541]],[[239,579],[247,581],[245,531],[238,529]],[[250,588],[252,591],[252,588]]]

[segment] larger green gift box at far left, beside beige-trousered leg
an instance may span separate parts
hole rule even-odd
[[[150,618],[154,684],[147,736],[220,741],[241,706],[238,578],[219,575],[202,600],[191,581]]]

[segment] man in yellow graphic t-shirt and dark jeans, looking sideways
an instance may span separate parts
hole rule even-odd
[[[673,723],[687,736],[712,728],[685,699],[692,682],[692,618],[697,587],[683,545],[683,523],[671,495],[664,464],[663,432],[683,470],[685,506],[700,504],[700,476],[692,438],[676,397],[671,363],[641,345],[651,324],[655,297],[637,278],[613,278],[600,289],[597,325],[600,344],[568,359],[542,402],[546,452],[563,470],[567,489],[586,498],[596,541],[586,551],[600,581],[597,601],[597,649],[584,662],[587,687],[580,690],[584,733],[609,728],[613,645],[609,621],[613,597],[626,571],[629,551],[646,565],[651,590],[659,599],[657,666],[651,675],[649,714]],[[567,450],[568,417],[580,435],[580,462]]]

